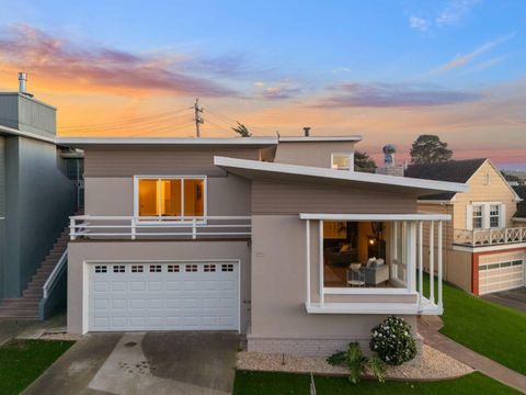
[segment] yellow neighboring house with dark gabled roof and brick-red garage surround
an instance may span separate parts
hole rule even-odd
[[[453,216],[443,228],[444,280],[482,295],[525,285],[526,222],[515,190],[489,159],[413,165],[405,177],[464,182],[469,191],[422,196],[419,211]],[[424,264],[431,240],[424,228]],[[436,257],[436,241],[434,253]],[[428,264],[426,264],[428,267]]]

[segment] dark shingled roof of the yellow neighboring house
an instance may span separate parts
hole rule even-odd
[[[405,170],[405,177],[466,183],[474,172],[487,161],[485,158],[448,160],[442,163],[411,165]],[[455,196],[456,192],[437,193],[421,196],[421,200],[441,200],[448,201]]]

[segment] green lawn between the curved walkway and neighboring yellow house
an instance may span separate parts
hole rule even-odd
[[[436,289],[436,286],[435,286]],[[428,278],[424,285],[428,295]],[[526,314],[444,283],[441,332],[503,365],[526,374]]]

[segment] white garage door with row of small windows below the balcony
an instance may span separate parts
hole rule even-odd
[[[90,331],[238,330],[237,262],[92,263]]]

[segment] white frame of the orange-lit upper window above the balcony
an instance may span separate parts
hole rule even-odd
[[[203,180],[203,216],[196,217],[197,224],[205,224],[208,216],[208,178],[206,176],[134,176],[134,217],[141,223],[183,223],[184,219],[164,219],[162,215],[157,215],[158,219],[140,219],[139,215],[139,180],[181,180],[181,214],[184,214],[184,180]],[[159,191],[158,191],[159,193]],[[148,215],[149,216],[149,215]],[[156,215],[152,215],[156,216]],[[184,216],[184,215],[182,215]]]

